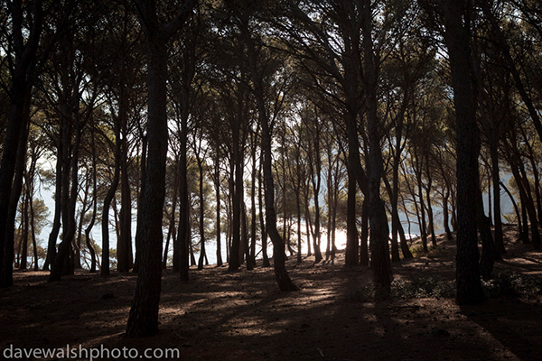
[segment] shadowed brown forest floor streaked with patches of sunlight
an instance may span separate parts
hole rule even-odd
[[[153,338],[124,336],[135,274],[48,283],[48,273],[16,272],[14,287],[0,290],[0,358],[70,345],[175,348],[187,361],[541,360],[542,254],[505,229],[508,253],[478,306],[454,303],[455,246],[438,236],[429,254],[393,265],[390,301],[372,299],[371,270],[346,268],[343,253],[334,263],[291,257],[299,292],[279,292],[272,268],[206,267],[188,283],[165,271]]]

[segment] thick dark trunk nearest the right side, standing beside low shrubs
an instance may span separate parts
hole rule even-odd
[[[463,3],[446,0],[444,39],[448,48],[457,132],[457,256],[456,301],[475,304],[485,300],[480,280],[477,228],[477,180],[480,134],[470,76],[470,24],[463,23]]]

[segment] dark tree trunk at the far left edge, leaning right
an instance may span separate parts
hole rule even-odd
[[[0,287],[10,287],[14,284],[14,218],[21,194],[19,182],[23,180],[22,173],[20,178],[15,176],[15,169],[16,163],[22,163],[26,153],[32,88],[36,79],[36,53],[42,36],[43,17],[42,0],[33,2],[29,10],[32,14],[28,14],[28,17],[32,16],[32,21],[25,19],[23,12],[27,7],[21,2],[9,4],[5,15],[12,20],[10,35],[14,42],[13,48],[8,47],[12,53],[7,56],[14,60],[16,71],[11,74],[10,79],[9,112],[5,125],[4,152],[0,163]],[[26,23],[27,21],[29,23]],[[28,37],[24,42],[26,35]]]

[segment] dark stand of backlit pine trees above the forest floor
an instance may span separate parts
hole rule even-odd
[[[333,261],[344,230],[346,264],[370,265],[385,298],[411,223],[424,252],[442,224],[460,304],[484,299],[503,222],[540,248],[536,1],[0,6],[3,287],[14,267],[136,272],[135,337],[157,331],[163,269],[187,281],[210,240],[232,272],[273,257],[295,291],[286,256]]]

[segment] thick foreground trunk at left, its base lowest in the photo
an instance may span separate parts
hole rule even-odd
[[[155,10],[155,8],[154,8]],[[155,14],[149,17],[155,18]],[[145,26],[142,20],[142,26]],[[156,25],[153,23],[152,25]],[[147,25],[147,26],[152,26]],[[152,27],[154,27],[152,26]],[[154,336],[158,332],[158,305],[162,288],[162,218],[167,157],[167,37],[157,29],[146,29],[148,84],[148,154],[145,177],[142,255],[135,284],[134,301],[126,335]]]

